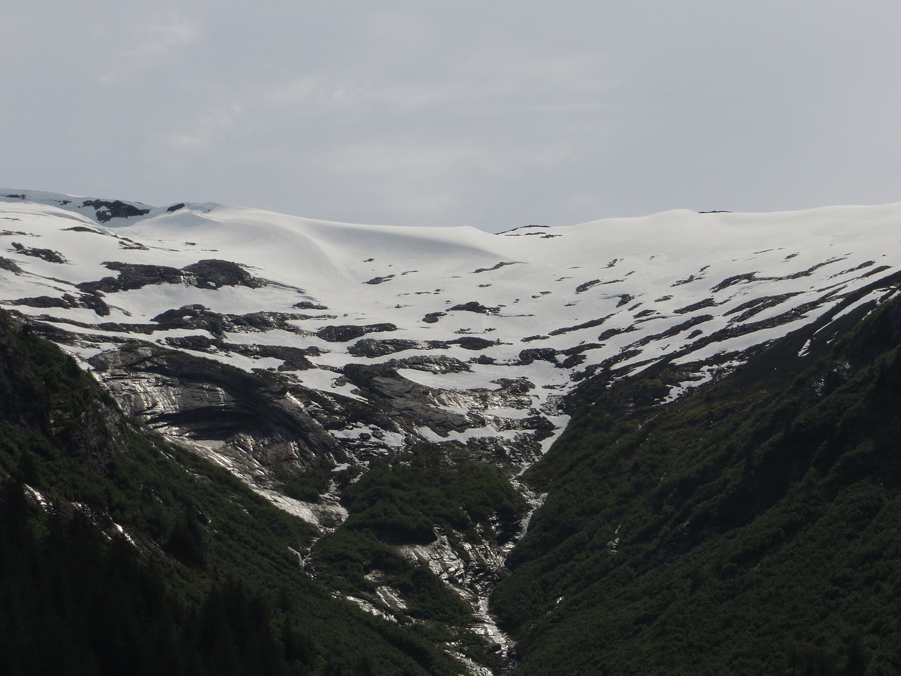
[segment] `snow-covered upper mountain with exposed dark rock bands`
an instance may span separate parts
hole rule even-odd
[[[580,380],[668,360],[677,396],[756,345],[884,296],[901,258],[901,204],[490,234],[3,195],[3,305],[40,321],[127,408],[222,461],[240,456],[245,473],[274,446],[341,465],[422,440],[522,467],[566,424],[560,401]],[[268,373],[320,442],[179,417],[185,384],[135,361],[159,347]],[[207,383],[201,398],[223,403],[228,389]]]

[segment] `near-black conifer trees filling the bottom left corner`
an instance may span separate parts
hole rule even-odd
[[[323,657],[266,598],[228,579],[193,601],[124,536],[81,511],[48,516],[5,486],[0,518],[0,671],[5,674],[366,672]],[[183,580],[184,581],[184,580]]]

